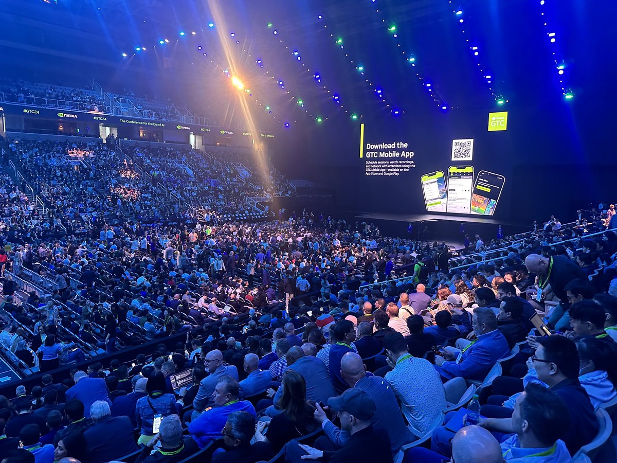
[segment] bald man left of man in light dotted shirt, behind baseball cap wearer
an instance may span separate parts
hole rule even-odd
[[[341,375],[350,387],[365,391],[375,402],[377,409],[371,419],[371,424],[373,428],[383,428],[387,431],[392,444],[392,454],[399,451],[403,444],[414,440],[412,433],[405,425],[403,414],[400,411],[392,388],[384,378],[367,376],[365,366],[362,364],[362,358],[358,354],[347,352],[342,357]],[[341,448],[349,440],[349,433],[336,427],[326,417],[325,411],[321,409],[319,404],[317,404],[317,410],[315,411],[315,420],[321,423],[321,427],[326,434],[326,436],[320,438],[321,446],[327,448],[334,444],[336,448]],[[329,443],[324,444],[323,440],[326,437]],[[315,444],[319,445],[319,440]]]

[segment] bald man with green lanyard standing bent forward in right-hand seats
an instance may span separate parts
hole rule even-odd
[[[560,299],[561,306],[566,311],[569,309],[569,303],[565,286],[576,278],[587,279],[587,275],[576,262],[562,256],[544,257],[539,254],[529,254],[525,258],[525,267],[530,273],[536,273],[538,276],[536,302],[542,300],[542,292],[550,286],[550,290]]]

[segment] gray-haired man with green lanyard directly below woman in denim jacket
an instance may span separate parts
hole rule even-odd
[[[156,445],[159,443],[160,445]],[[154,447],[157,449],[154,449]],[[154,449],[154,450],[153,450]],[[182,423],[178,415],[167,415],[160,422],[159,433],[139,454],[140,463],[175,463],[197,453],[199,447],[190,437],[182,438]]]

